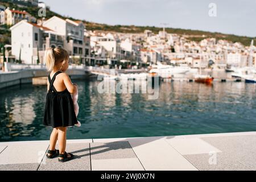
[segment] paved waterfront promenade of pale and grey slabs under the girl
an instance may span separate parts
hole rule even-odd
[[[256,170],[256,132],[67,143],[75,159],[59,163],[46,158],[47,140],[0,142],[0,170]]]

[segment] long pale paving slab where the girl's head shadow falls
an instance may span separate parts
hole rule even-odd
[[[129,143],[146,171],[197,170],[164,139],[131,139]]]

